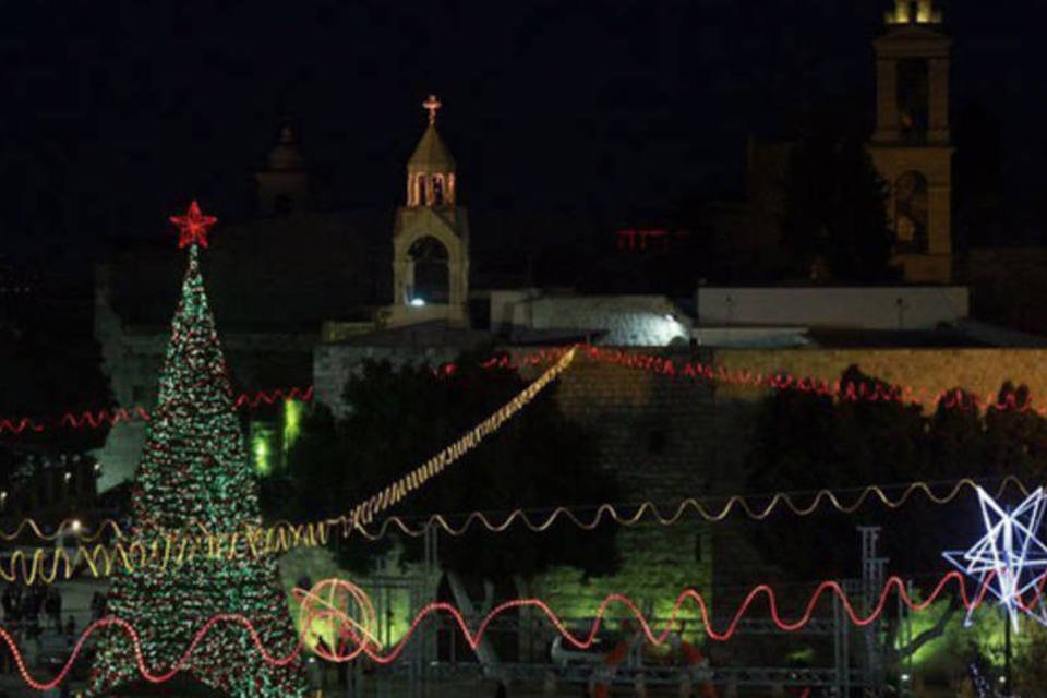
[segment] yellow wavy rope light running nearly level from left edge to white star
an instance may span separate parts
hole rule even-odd
[[[1027,495],[1028,488],[1018,478],[1008,476],[1003,478],[996,490],[996,496],[1001,496],[1008,488],[1014,488],[1023,495]],[[586,520],[581,518],[574,509],[569,507],[556,507],[552,513],[544,516],[538,522],[532,521],[527,512],[516,509],[510,512],[501,521],[492,521],[483,512],[472,512],[466,515],[465,520],[459,526],[454,526],[448,518],[441,514],[430,516],[428,526],[435,526],[445,533],[454,537],[464,535],[471,527],[482,526],[491,533],[502,533],[514,525],[522,525],[535,533],[541,533],[550,529],[559,519],[565,519],[576,527],[583,530],[593,530],[600,526],[604,519],[613,520],[621,526],[633,527],[642,525],[649,520],[661,526],[675,526],[689,512],[694,512],[708,522],[719,522],[726,519],[735,509],[744,513],[753,520],[763,520],[769,517],[777,508],[784,506],[796,516],[810,516],[822,506],[829,505],[842,514],[854,514],[867,504],[870,498],[875,498],[883,506],[890,509],[898,509],[904,506],[910,498],[917,493],[927,497],[928,502],[936,505],[946,505],[956,500],[966,489],[979,489],[977,482],[970,478],[964,478],[950,488],[947,494],[937,495],[928,482],[913,482],[906,485],[896,485],[896,489],[903,488],[902,493],[891,498],[883,486],[870,485],[858,490],[858,495],[850,503],[842,503],[839,493],[830,490],[819,490],[814,493],[814,498],[806,506],[798,505],[794,501],[796,494],[779,492],[771,496],[770,501],[762,507],[754,507],[745,495],[733,495],[719,508],[707,508],[698,500],[689,498],[677,505],[671,516],[664,516],[658,506],[652,502],[645,502],[639,505],[631,514],[622,514],[613,504],[602,504],[597,507],[592,518]],[[810,493],[805,493],[810,496]],[[757,498],[757,497],[751,497]],[[762,498],[762,497],[760,497]],[[631,507],[630,507],[631,508]],[[340,525],[340,524],[339,524]],[[24,529],[34,531],[40,538],[53,541],[63,531],[69,530],[70,522],[63,521],[59,533],[46,535],[39,531],[37,524],[31,519],[23,520],[19,529],[12,534],[4,534],[8,540],[17,538]],[[392,516],[386,518],[378,527],[376,532],[369,530],[363,524],[358,524],[352,530],[342,529],[344,537],[351,532],[363,535],[368,540],[376,541],[388,534],[390,528],[396,528],[400,532],[419,538],[425,534],[426,525],[411,526],[404,517]],[[26,583],[41,582],[53,583],[56,580],[68,580],[74,574],[87,574],[93,577],[108,577],[115,569],[133,571],[141,565],[160,564],[163,568],[170,565],[183,565],[193,559],[225,557],[236,559],[240,556],[258,555],[279,555],[297,547],[315,547],[326,545],[330,539],[330,526],[328,522],[313,524],[291,524],[279,521],[268,528],[244,527],[243,533],[208,535],[202,532],[200,535],[185,537],[171,533],[151,543],[133,541],[129,539],[118,540],[112,545],[81,544],[70,554],[64,547],[37,547],[32,551],[16,550],[11,553],[5,566],[0,567],[0,579],[14,581],[23,579]],[[94,532],[88,534],[92,540],[97,540],[107,529],[111,529],[118,537],[123,538],[119,526],[112,519],[106,519],[103,525]],[[83,567],[80,571],[77,569]]]

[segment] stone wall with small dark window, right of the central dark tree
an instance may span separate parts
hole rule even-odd
[[[565,416],[594,432],[600,465],[614,473],[622,502],[652,501],[667,516],[683,497],[709,491],[715,409],[708,388],[579,356],[555,389]],[[622,528],[617,546],[622,568],[613,577],[582,583],[577,571],[554,569],[535,580],[535,590],[568,613],[583,606],[571,599],[599,602],[623,592],[662,617],[686,588],[710,594],[710,528],[693,514],[676,526]],[[688,605],[685,615],[694,611]]]

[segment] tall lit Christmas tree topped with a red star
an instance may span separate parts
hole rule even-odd
[[[215,219],[201,215],[193,202],[185,216],[171,220],[181,230],[179,246],[189,246],[189,269],[131,494],[131,535],[144,542],[202,530],[228,535],[261,525],[257,483],[200,270],[200,246],[207,245]],[[272,655],[287,655],[297,643],[272,555],[197,555],[166,568],[122,571],[112,579],[108,612],[135,627],[153,673],[170,670],[215,614],[246,616]],[[239,625],[208,631],[183,672],[236,697],[305,691],[300,661],[267,663]],[[139,678],[132,640],[109,629],[99,638],[91,693],[104,695]]]

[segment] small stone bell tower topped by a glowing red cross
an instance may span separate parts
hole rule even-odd
[[[407,202],[393,232],[392,325],[467,322],[469,224],[456,203],[455,159],[436,131],[441,106],[435,95],[422,104],[429,125],[407,163]]]

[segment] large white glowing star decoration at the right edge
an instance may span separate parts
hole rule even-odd
[[[942,553],[960,571],[978,580],[978,591],[987,590],[1000,600],[1014,629],[1018,616],[1025,613],[1047,625],[1047,607],[1037,595],[1047,576],[1047,545],[1039,540],[1047,495],[1037,488],[1013,512],[1004,510],[982,488],[978,504],[985,521],[985,537],[971,550]],[[1023,601],[1024,599],[1024,601]],[[971,625],[974,607],[967,609]]]

